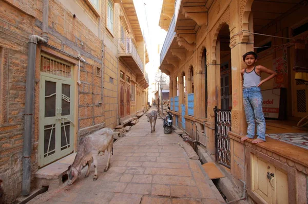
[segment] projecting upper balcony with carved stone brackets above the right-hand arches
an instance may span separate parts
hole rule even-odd
[[[207,12],[214,0],[177,0],[161,52],[160,69],[170,75],[186,53],[195,49],[197,31],[207,25]]]

